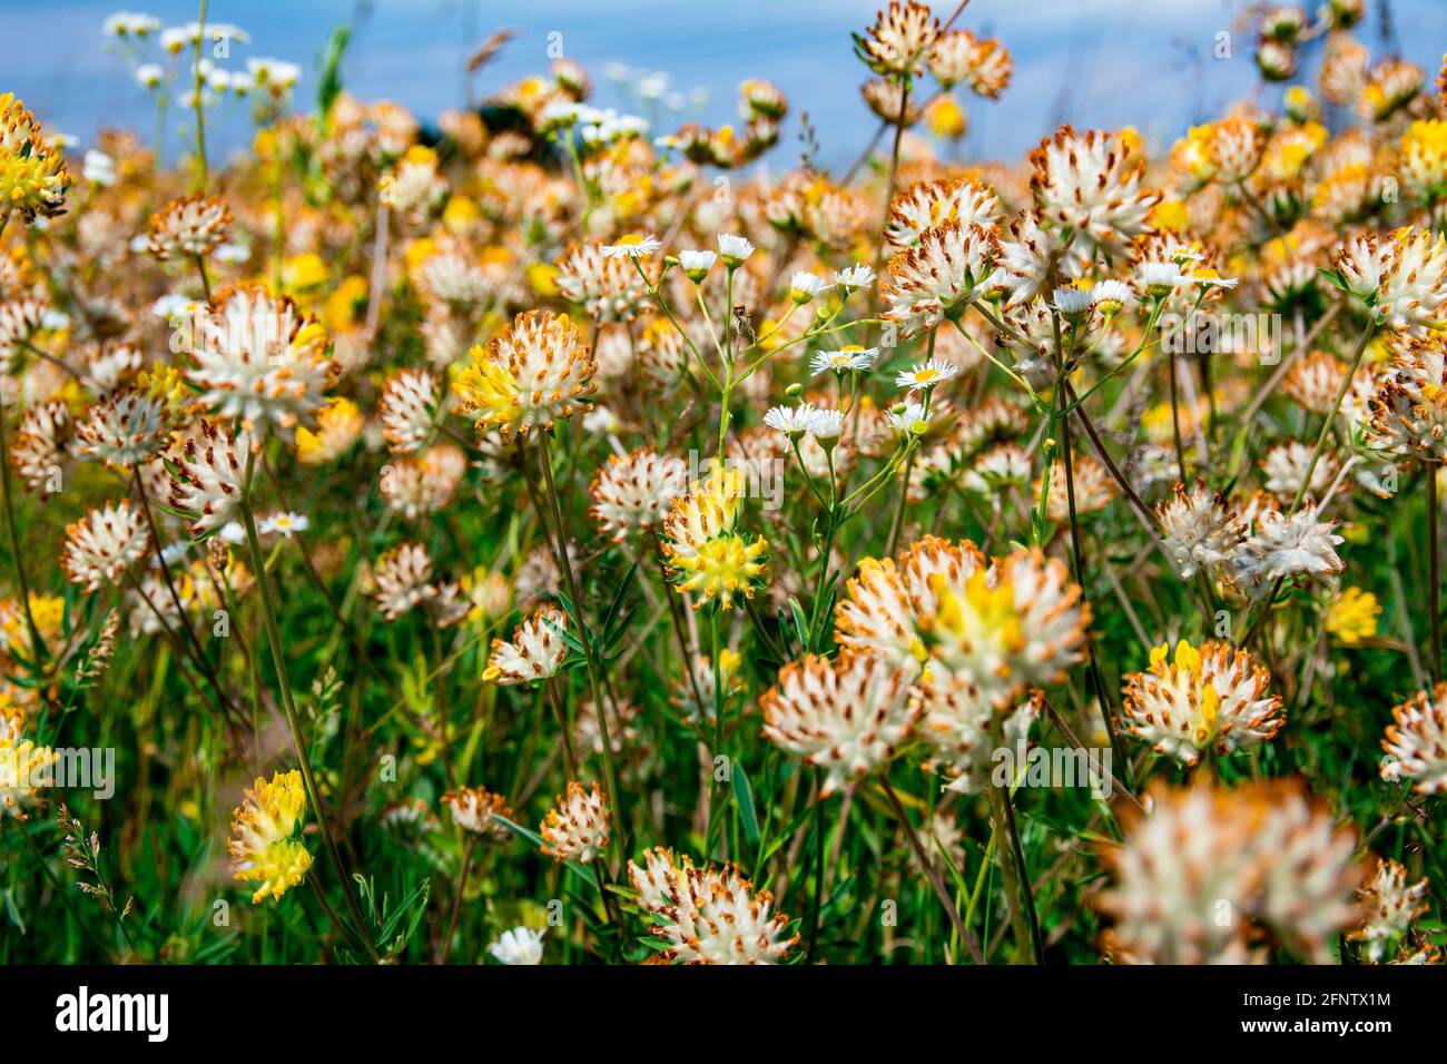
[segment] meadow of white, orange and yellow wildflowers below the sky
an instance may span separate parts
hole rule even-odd
[[[1376,6],[1001,158],[1009,35],[891,0],[842,161],[747,49],[705,124],[486,4],[437,113],[94,25],[153,123],[0,96],[0,961],[1441,963],[1447,61]]]

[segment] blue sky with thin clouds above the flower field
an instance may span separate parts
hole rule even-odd
[[[1315,0],[1311,0],[1312,6]],[[1392,0],[1392,46],[1383,45],[1378,4],[1360,30],[1373,56],[1398,51],[1434,75],[1447,49],[1447,1]],[[10,42],[0,88],[16,91],[51,127],[82,142],[103,126],[130,126],[149,138],[153,111],[122,62],[107,54],[100,26],[120,4],[91,0],[0,0],[0,39]],[[195,17],[194,3],[126,4],[166,23]],[[874,130],[860,100],[862,67],[849,32],[873,20],[877,0],[211,0],[208,19],[233,22],[252,43],[247,55],[298,62],[304,100],[315,91],[315,58],[330,28],[356,20],[344,68],[362,98],[392,98],[424,119],[462,100],[464,56],[495,29],[518,30],[478,78],[488,94],[548,64],[550,33],[598,83],[598,103],[627,107],[603,75],[608,62],[661,71],[686,97],[706,90],[703,119],[732,120],[745,77],[776,81],[794,114],[813,120],[826,162],[852,158]],[[968,155],[1016,158],[1059,122],[1136,124],[1156,145],[1252,90],[1252,35],[1239,25],[1246,0],[972,0],[958,25],[1000,36],[1016,75],[998,103],[964,100]],[[935,4],[942,16],[952,3]],[[363,12],[359,17],[359,12]],[[1234,30],[1233,58],[1213,58],[1218,32]],[[242,104],[211,123],[221,148],[243,142]],[[664,124],[673,124],[667,122]],[[786,130],[780,151],[793,153]],[[781,159],[786,162],[789,159]]]

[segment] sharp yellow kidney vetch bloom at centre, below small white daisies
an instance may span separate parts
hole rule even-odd
[[[716,465],[679,497],[663,524],[663,550],[673,583],[697,595],[695,608],[718,599],[734,608],[734,595],[754,598],[768,572],[768,541],[737,531],[744,511],[744,472]]]

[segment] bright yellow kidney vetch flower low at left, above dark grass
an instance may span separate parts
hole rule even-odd
[[[300,838],[305,806],[307,792],[294,769],[273,773],[269,783],[258,776],[232,814],[232,879],[259,883],[253,905],[266,895],[279,899],[307,876],[311,854]]]

